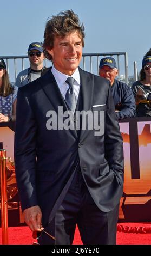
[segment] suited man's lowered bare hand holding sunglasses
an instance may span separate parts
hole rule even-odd
[[[25,209],[24,218],[31,231],[42,231],[42,212],[38,205]]]

